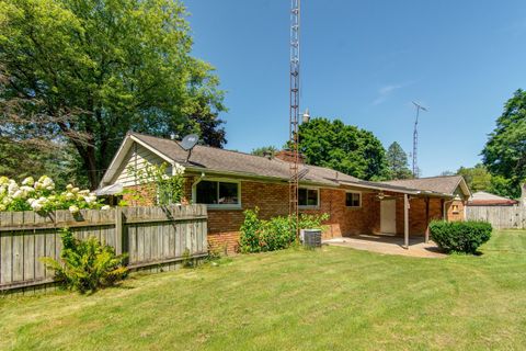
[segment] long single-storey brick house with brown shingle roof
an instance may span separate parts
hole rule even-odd
[[[209,244],[231,252],[238,245],[244,210],[258,206],[263,218],[288,214],[289,158],[288,151],[260,157],[201,145],[188,154],[176,140],[128,133],[103,176],[100,193],[110,188],[141,191],[129,166],[140,169],[168,162],[170,173],[175,165],[182,165],[185,196],[208,205]],[[330,215],[324,238],[381,233],[403,235],[409,245],[409,235],[426,234],[431,219],[464,218],[464,206],[449,211],[458,201],[456,190],[449,188],[369,182],[305,163],[299,173],[300,212]],[[459,191],[460,201],[469,197],[465,182]],[[152,203],[155,196],[145,193],[137,204]]]

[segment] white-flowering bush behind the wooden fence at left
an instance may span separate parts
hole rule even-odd
[[[101,208],[94,193],[80,190],[69,184],[66,190],[58,192],[55,182],[47,176],[37,181],[27,177],[18,184],[14,180],[0,177],[0,212],[3,211],[35,211],[47,213],[55,210],[69,210],[78,213],[82,208]]]

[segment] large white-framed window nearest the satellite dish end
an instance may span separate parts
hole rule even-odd
[[[195,185],[195,202],[207,205],[240,205],[239,183],[203,180]]]

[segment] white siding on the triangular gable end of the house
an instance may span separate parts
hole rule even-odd
[[[129,172],[130,167],[140,170],[145,169],[147,165],[160,166],[162,162],[167,161],[144,146],[135,143],[124,158],[123,163],[118,166],[118,169],[111,183],[121,183],[124,186],[136,185],[135,177],[133,172]],[[167,174],[172,174],[172,166],[167,168]]]

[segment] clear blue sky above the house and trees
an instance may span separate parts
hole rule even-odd
[[[288,137],[289,0],[183,0],[193,55],[229,109],[226,148]],[[503,105],[526,89],[524,0],[302,0],[301,110],[412,150],[423,177],[471,167]]]

